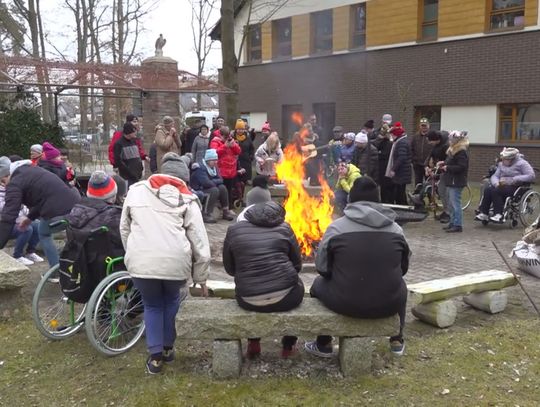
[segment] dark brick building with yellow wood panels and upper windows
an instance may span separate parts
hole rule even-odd
[[[539,0],[253,0],[235,19],[240,110],[358,131],[383,113],[466,129],[471,179],[503,146],[540,166]]]

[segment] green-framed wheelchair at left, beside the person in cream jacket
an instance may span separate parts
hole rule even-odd
[[[55,230],[68,226],[65,220],[51,224]],[[107,232],[105,226],[94,229],[88,241],[103,241]],[[107,356],[119,355],[133,347],[144,334],[144,308],[129,273],[122,270],[123,260],[123,257],[105,258],[105,277],[86,303],[71,300],[59,283],[51,281],[60,273],[59,265],[49,269],[32,299],[32,318],[38,331],[48,339],[61,340],[85,327],[91,345]]]

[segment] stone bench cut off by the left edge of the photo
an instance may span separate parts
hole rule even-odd
[[[9,318],[22,306],[21,289],[30,281],[30,269],[0,250],[0,318]]]

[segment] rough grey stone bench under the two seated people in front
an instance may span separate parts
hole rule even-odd
[[[242,368],[241,339],[284,335],[339,337],[339,363],[345,376],[371,372],[374,338],[395,335],[397,315],[356,319],[338,315],[315,298],[288,312],[257,313],[235,300],[187,300],[176,317],[178,338],[213,341],[212,370],[219,378],[237,377]]]

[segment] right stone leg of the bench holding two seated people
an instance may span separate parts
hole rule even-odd
[[[372,338],[339,338],[339,365],[344,376],[371,373]]]

